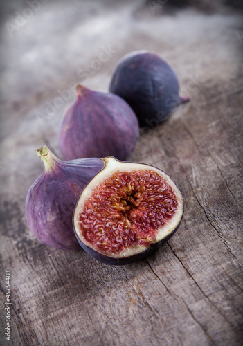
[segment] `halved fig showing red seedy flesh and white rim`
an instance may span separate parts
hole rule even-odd
[[[78,242],[112,265],[141,260],[179,228],[183,197],[168,174],[151,165],[102,158],[73,213]]]

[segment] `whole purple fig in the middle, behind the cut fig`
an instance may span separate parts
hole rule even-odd
[[[77,100],[60,128],[60,151],[66,160],[116,156],[125,160],[139,136],[138,119],[131,107],[113,93],[92,91],[80,84]]]

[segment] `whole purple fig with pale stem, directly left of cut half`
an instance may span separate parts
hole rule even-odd
[[[100,158],[59,160],[47,147],[36,151],[44,173],[26,195],[26,221],[33,235],[61,250],[80,248],[73,232],[73,210],[84,186],[104,167]]]

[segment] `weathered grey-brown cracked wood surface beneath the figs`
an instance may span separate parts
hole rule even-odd
[[[242,16],[221,6],[167,11],[163,3],[43,1],[31,17],[25,1],[6,1],[1,345],[242,345]],[[130,159],[177,182],[181,227],[154,255],[121,267],[39,244],[24,216],[26,192],[43,171],[35,149],[48,145],[60,156],[71,85],[107,90],[120,57],[144,48],[170,62],[191,102],[141,132]],[[3,334],[8,270],[11,342]]]

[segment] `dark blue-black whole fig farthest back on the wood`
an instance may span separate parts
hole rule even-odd
[[[109,91],[134,110],[141,127],[154,127],[189,98],[179,96],[177,75],[165,60],[150,51],[125,55],[112,74]]]

